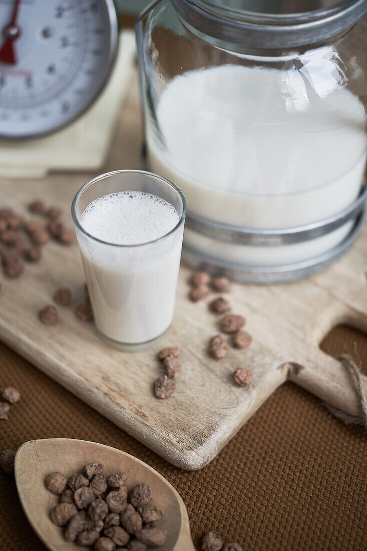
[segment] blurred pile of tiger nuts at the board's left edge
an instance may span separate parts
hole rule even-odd
[[[28,210],[37,218],[26,220],[10,208],[0,209],[1,265],[7,278],[18,278],[23,274],[22,260],[39,262],[42,246],[50,239],[62,245],[71,245],[75,241],[74,231],[67,230],[61,222],[60,208],[46,208],[42,201],[34,201]]]

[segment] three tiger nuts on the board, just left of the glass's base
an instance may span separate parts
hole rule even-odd
[[[84,285],[85,298],[78,302],[74,310],[75,316],[80,321],[89,322],[93,320],[93,310],[90,304],[87,285]],[[53,294],[53,301],[59,306],[69,306],[73,300],[72,292],[66,287],[60,287]],[[47,304],[38,312],[38,317],[44,325],[53,325],[58,320],[58,310],[53,304]]]

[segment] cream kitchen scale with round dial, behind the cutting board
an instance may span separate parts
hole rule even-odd
[[[0,176],[104,163],[134,52],[112,0],[0,0]]]

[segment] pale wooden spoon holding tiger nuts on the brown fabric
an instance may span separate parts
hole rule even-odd
[[[50,511],[58,503],[58,496],[45,486],[48,474],[60,471],[67,477],[79,473],[87,463],[99,462],[108,476],[124,471],[128,487],[143,482],[153,491],[153,503],[163,512],[159,526],[167,530],[161,551],[195,551],[184,502],[177,491],[152,467],[115,448],[67,438],[30,440],[20,446],[15,456],[15,481],[24,512],[34,531],[51,551],[81,551],[84,549],[63,537],[63,528],[50,518]]]

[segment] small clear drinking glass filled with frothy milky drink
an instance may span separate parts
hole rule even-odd
[[[89,234],[80,223],[84,210],[95,199],[122,191],[164,199],[176,209],[179,221],[169,233],[139,245],[120,245]],[[72,216],[99,336],[112,347],[131,352],[155,344],[174,317],[186,217],[184,195],[162,176],[118,170],[86,183],[73,199]]]

